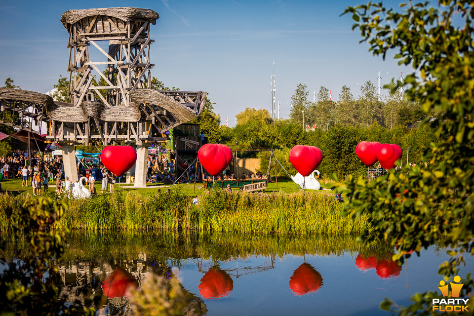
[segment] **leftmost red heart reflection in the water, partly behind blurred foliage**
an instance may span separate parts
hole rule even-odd
[[[130,297],[131,290],[136,289],[138,282],[128,271],[117,268],[102,281],[102,289],[108,298]]]

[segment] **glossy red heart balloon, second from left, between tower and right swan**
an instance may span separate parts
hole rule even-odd
[[[210,175],[217,177],[232,162],[232,150],[226,145],[205,144],[197,152],[197,158]]]

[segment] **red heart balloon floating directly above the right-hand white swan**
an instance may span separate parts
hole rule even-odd
[[[322,159],[319,148],[314,146],[296,145],[290,150],[288,158],[295,169],[304,177],[309,176],[321,163]]]

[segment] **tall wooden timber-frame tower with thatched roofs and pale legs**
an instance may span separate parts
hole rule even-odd
[[[0,88],[1,111],[47,123],[46,139],[61,145],[71,180],[77,180],[75,145],[125,142],[137,149],[135,186],[146,186],[149,142],[164,141],[166,131],[201,112],[202,91],[151,89],[150,31],[157,19],[153,10],[132,7],[69,10],[61,22],[69,33],[70,103]]]

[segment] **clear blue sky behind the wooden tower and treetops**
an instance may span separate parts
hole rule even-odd
[[[288,117],[298,83],[313,101],[320,86],[339,99],[343,85],[357,98],[361,84],[399,78],[397,66],[373,57],[352,32],[348,5],[363,0],[156,0],[156,1],[0,1],[0,86],[14,79],[22,89],[44,93],[67,75],[68,33],[60,22],[70,9],[133,6],[158,12],[152,26],[152,76],[181,90],[203,90],[215,112],[234,126],[246,107],[271,108],[271,76],[276,72],[280,117]],[[398,8],[406,1],[384,1]],[[381,84],[382,85],[382,84]]]

